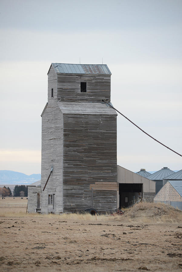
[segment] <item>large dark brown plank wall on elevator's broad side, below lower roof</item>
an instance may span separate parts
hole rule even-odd
[[[117,182],[116,115],[64,114],[64,210],[91,208],[89,186],[95,182],[105,182],[106,186],[107,182]],[[103,191],[105,197],[107,194]],[[116,192],[110,192],[108,197],[112,194],[115,196]],[[102,200],[98,212],[107,210]],[[116,200],[112,209],[116,208]]]

